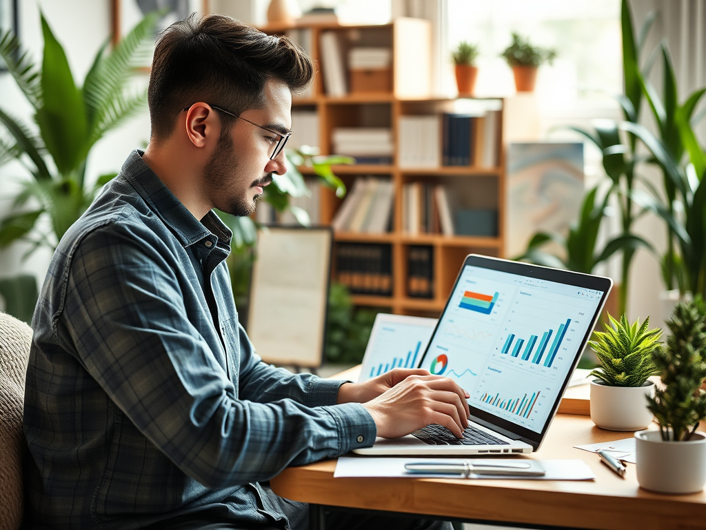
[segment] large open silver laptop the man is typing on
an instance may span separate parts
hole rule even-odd
[[[536,451],[612,285],[601,276],[470,254],[418,363],[470,394],[464,438],[429,425],[354,452]]]

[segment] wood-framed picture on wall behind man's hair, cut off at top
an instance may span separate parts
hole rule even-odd
[[[0,0],[3,1],[3,0]],[[208,0],[112,0],[113,44],[117,44],[148,13],[166,10],[157,25],[157,35],[169,25],[186,18],[194,11],[204,13]],[[155,37],[157,37],[155,35]]]

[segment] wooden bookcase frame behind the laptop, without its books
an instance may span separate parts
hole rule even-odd
[[[266,33],[282,35],[292,28],[267,27]],[[306,98],[294,98],[293,111],[316,110],[318,112],[318,147],[322,154],[333,154],[331,133],[335,127],[385,126],[393,131],[393,139],[399,138],[400,117],[412,114],[441,114],[447,112],[457,100],[435,98],[431,94],[430,57],[431,28],[426,20],[400,18],[387,25],[340,26],[309,25],[306,29],[311,43],[310,53],[318,65],[312,93]],[[344,51],[351,45],[388,46],[392,50],[392,90],[378,93],[347,93],[331,96],[325,91],[325,69],[322,57],[321,35],[323,32],[339,33]],[[345,57],[345,54],[344,54]],[[501,109],[503,102],[500,103]],[[359,177],[373,175],[393,182],[394,205],[391,232],[366,234],[361,232],[335,232],[335,244],[346,242],[390,245],[392,256],[393,292],[391,296],[354,295],[356,305],[377,307],[396,314],[414,314],[438,317],[464,257],[469,253],[501,256],[504,247],[505,226],[503,211],[505,204],[505,162],[503,142],[503,115],[499,111],[496,134],[498,136],[497,160],[494,167],[440,166],[433,168],[400,167],[397,144],[393,163],[389,165],[340,165],[333,167],[350,190]],[[296,134],[297,131],[294,131]],[[306,174],[306,168],[303,168]],[[409,182],[443,182],[459,196],[470,197],[475,204],[497,211],[498,235],[496,237],[417,234],[403,232],[402,188]],[[328,189],[320,193],[321,223],[330,224],[342,201]],[[344,199],[345,200],[345,199]],[[461,199],[463,200],[463,199]],[[407,252],[411,245],[427,245],[433,249],[433,298],[412,298],[407,295]],[[334,264],[334,277],[336,275]]]

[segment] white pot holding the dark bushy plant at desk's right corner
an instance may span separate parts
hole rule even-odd
[[[659,430],[635,432],[640,488],[659,493],[697,493],[706,484],[706,435],[664,442]]]

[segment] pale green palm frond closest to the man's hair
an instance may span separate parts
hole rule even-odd
[[[114,110],[114,100],[124,97],[131,73],[149,61],[157,20],[157,13],[148,14],[111,54],[106,56],[103,48],[98,52],[83,83],[83,100],[91,131],[107,121],[105,114]],[[95,134],[91,132],[90,136],[95,137]]]

